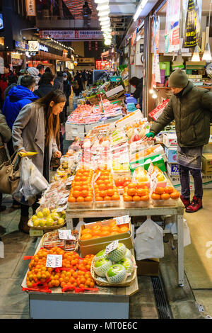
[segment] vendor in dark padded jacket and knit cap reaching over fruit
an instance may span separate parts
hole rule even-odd
[[[180,198],[186,212],[194,213],[202,208],[201,155],[210,136],[212,93],[207,89],[196,88],[182,69],[177,69],[170,75],[169,86],[173,93],[170,101],[143,140],[150,140],[175,120],[177,163],[182,187]],[[195,191],[192,202],[189,172],[194,178]]]

